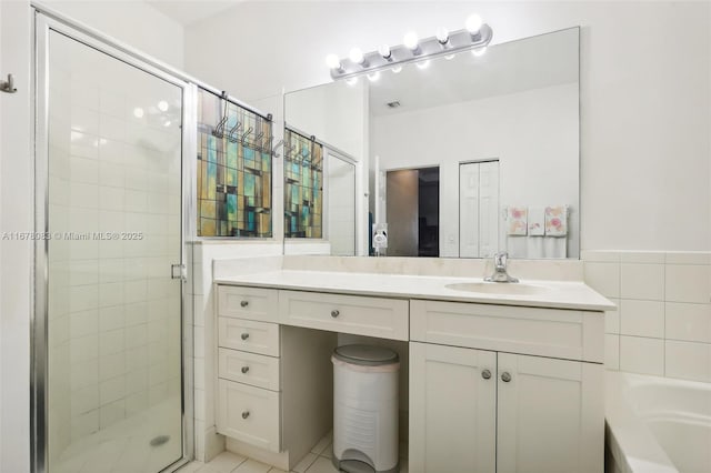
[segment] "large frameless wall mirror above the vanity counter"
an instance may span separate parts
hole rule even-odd
[[[286,197],[286,228],[318,225],[311,238],[332,254],[367,249],[372,223],[387,223],[392,256],[579,258],[579,36],[286,94],[287,193],[290,170],[310,173]]]

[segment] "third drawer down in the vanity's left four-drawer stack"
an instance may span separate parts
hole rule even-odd
[[[218,349],[218,375],[226,380],[279,391],[279,359]]]

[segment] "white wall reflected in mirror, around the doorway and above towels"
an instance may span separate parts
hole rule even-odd
[[[563,84],[372,117],[370,150],[383,171],[440,167],[441,256],[459,256],[459,163],[485,159],[499,159],[501,208],[570,205],[577,256],[577,123],[578,84]]]

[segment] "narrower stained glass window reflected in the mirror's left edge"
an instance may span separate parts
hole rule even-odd
[[[284,130],[284,235],[323,238],[323,147]]]

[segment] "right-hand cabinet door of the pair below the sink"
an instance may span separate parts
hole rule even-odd
[[[497,473],[601,473],[602,365],[510,353],[498,365]]]

